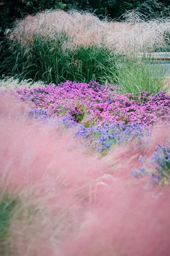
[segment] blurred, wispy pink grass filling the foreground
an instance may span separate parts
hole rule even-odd
[[[26,105],[0,96],[1,194],[19,196],[10,220],[14,256],[168,256],[170,188],[134,179],[140,154],[170,138],[156,125],[149,142],[90,155],[72,131],[28,119]]]

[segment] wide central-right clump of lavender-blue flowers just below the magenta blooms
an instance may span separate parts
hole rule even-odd
[[[113,145],[132,140],[139,140],[144,135],[149,135],[150,129],[146,124],[123,124],[114,122],[108,124],[104,122],[102,126],[93,126],[89,128],[83,125],[79,126],[75,137],[83,138],[87,146],[93,147],[96,152],[103,153],[109,150]]]

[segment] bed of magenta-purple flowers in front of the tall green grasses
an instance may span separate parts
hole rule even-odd
[[[162,91],[156,95],[148,92],[117,95],[111,84],[66,81],[56,87],[49,84],[31,90],[17,89],[14,94],[28,101],[31,109],[43,109],[47,116],[53,117],[67,114],[86,127],[117,121],[152,125],[170,119],[170,96]]]

